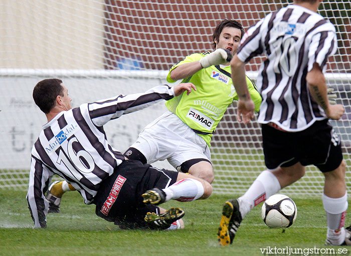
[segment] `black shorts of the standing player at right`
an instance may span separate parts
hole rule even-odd
[[[314,165],[321,172],[330,172],[342,161],[341,141],[327,119],[315,121],[306,130],[296,133],[262,124],[262,140],[268,169],[300,162],[303,166]]]

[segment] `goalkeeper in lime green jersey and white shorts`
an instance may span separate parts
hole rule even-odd
[[[124,153],[126,158],[148,164],[167,159],[178,171],[212,183],[210,142],[224,112],[238,99],[229,61],[243,35],[239,22],[223,20],[212,36],[213,52],[193,53],[170,68],[168,82],[183,79],[193,83],[197,90],[167,102],[168,111],[145,127]],[[246,79],[258,110],[261,95],[255,84]]]

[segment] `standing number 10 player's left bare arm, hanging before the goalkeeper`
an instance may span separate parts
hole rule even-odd
[[[255,104],[251,100],[245,77],[245,63],[235,54],[230,62],[232,80],[238,93],[237,117],[239,122],[248,123],[254,117]]]

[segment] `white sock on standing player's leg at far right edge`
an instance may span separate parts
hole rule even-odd
[[[326,238],[332,244],[339,245],[345,239],[345,224],[347,203],[347,192],[340,198],[331,198],[322,194],[323,207],[326,213],[326,222],[328,229]]]

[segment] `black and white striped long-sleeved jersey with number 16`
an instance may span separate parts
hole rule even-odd
[[[106,122],[173,96],[173,88],[160,85],[144,93],[82,104],[60,112],[43,125],[32,149],[27,194],[35,227],[46,226],[48,202],[44,193],[54,174],[69,182],[89,204],[101,181],[122,163],[123,155],[107,141],[103,129]]]

